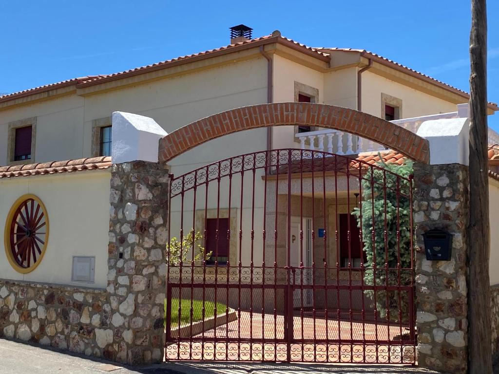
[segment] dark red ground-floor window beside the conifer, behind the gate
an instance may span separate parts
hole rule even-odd
[[[348,219],[350,217],[350,248],[348,248]],[[360,240],[360,229],[357,226],[357,217],[353,214],[339,214],[340,223],[340,266],[348,267],[348,261],[352,268],[360,268],[360,263],[365,263],[367,258],[362,250],[363,244]],[[350,249],[350,256],[348,250]],[[361,261],[362,259],[362,261]]]

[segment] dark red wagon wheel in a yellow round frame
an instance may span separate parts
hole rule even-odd
[[[45,253],[47,239],[45,206],[34,195],[21,196],[5,224],[5,251],[12,267],[20,273],[33,271]]]

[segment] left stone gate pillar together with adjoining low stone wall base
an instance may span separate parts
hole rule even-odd
[[[168,187],[161,164],[113,165],[107,289],[0,280],[0,337],[161,362]]]

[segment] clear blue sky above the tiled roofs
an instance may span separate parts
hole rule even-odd
[[[499,1],[488,1],[489,101],[499,101]],[[229,27],[367,49],[469,91],[469,0],[1,1],[0,92],[107,74],[229,43]],[[499,112],[489,117],[499,131]]]

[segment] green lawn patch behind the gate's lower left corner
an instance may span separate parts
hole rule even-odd
[[[192,303],[192,304],[191,304]],[[191,307],[192,307],[192,322],[201,321],[203,319],[203,301],[182,299],[180,301],[180,326],[189,325],[191,323]],[[217,303],[217,316],[226,314],[227,306],[222,303]],[[165,299],[165,325],[166,325],[166,310],[167,300]],[[205,320],[215,315],[215,303],[213,301],[205,301]],[[172,320],[171,326],[179,326],[179,299],[172,299]]]

